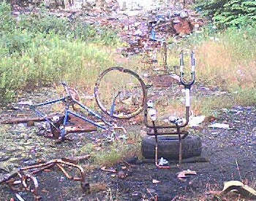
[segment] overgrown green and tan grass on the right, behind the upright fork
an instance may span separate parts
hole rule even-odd
[[[256,29],[227,28],[225,31],[212,30],[205,27],[203,33],[195,33],[181,44],[171,44],[168,53],[168,63],[178,66],[178,53],[184,47],[195,49],[196,53],[196,82],[208,87],[227,90],[232,98],[200,101],[201,111],[222,107],[225,103],[239,105],[255,105],[256,87]],[[187,67],[189,67],[187,55]],[[188,74],[189,75],[189,74]],[[208,112],[208,111],[207,111]]]

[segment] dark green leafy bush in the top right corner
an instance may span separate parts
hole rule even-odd
[[[255,0],[200,0],[196,7],[202,9],[218,28],[256,25]]]

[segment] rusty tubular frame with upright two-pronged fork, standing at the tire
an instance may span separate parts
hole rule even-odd
[[[185,101],[185,108],[186,108],[186,122],[184,122],[184,124],[180,125],[177,121],[170,121],[171,123],[173,123],[173,125],[156,125],[155,121],[157,119],[156,117],[156,110],[153,109],[153,103],[148,103],[148,98],[146,98],[146,102],[144,103],[144,124],[146,125],[146,127],[151,128],[154,130],[154,133],[147,133],[147,135],[154,135],[155,136],[155,140],[156,140],[156,147],[155,147],[155,164],[157,165],[157,167],[159,168],[164,168],[164,169],[169,169],[170,166],[162,166],[159,165],[157,162],[157,151],[158,151],[158,139],[157,136],[158,135],[178,135],[178,143],[179,143],[179,149],[178,149],[178,164],[181,164],[181,140],[186,138],[187,135],[189,134],[187,131],[181,130],[182,127],[186,127],[189,123],[189,109],[190,109],[190,90],[192,87],[192,84],[194,84],[195,82],[195,53],[192,51],[191,52],[191,80],[189,82],[187,82],[184,79],[184,52],[181,51],[180,54],[180,78],[181,78],[181,82],[180,84],[182,84],[184,86],[185,89],[185,97],[186,97],[186,101]],[[149,109],[149,112],[148,112]],[[151,114],[151,121],[152,121],[152,125],[148,124],[148,113]],[[176,129],[176,132],[158,132],[158,129]]]

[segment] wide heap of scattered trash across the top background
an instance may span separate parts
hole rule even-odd
[[[85,25],[106,27],[118,32],[127,47],[119,49],[123,55],[159,50],[162,44],[179,42],[193,32],[200,32],[205,20],[184,4],[158,1],[142,4],[140,1],[129,0],[73,0],[61,1],[63,4],[51,5],[45,1],[49,15],[83,20]],[[55,1],[57,2],[57,1]],[[38,8],[26,9],[12,5],[12,14],[39,12]]]

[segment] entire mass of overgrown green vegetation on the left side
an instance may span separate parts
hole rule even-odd
[[[0,3],[0,103],[18,90],[51,85],[65,79],[84,88],[103,68],[113,65],[118,44],[114,31],[82,21],[69,23],[47,12],[11,16],[10,5]]]

